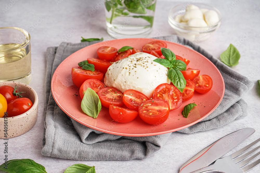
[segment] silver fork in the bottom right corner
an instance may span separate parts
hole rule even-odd
[[[247,151],[248,149],[253,147],[259,141],[260,141],[260,138],[257,139],[256,141],[252,142],[251,144],[245,146],[241,150],[238,150],[237,152],[235,152],[229,156],[219,158],[218,160],[216,160],[209,166],[199,169],[197,171],[194,171],[192,173],[206,173],[206,172],[243,173],[243,172],[249,171],[250,169],[254,168],[256,165],[258,165],[260,163],[260,159],[247,165],[246,167],[243,167],[243,166],[248,164],[250,161],[252,161],[258,155],[260,155],[260,151],[259,151],[258,153],[254,154],[248,158],[248,156],[250,156],[252,153],[257,151],[260,148],[260,146],[252,149],[251,151],[249,151],[248,153],[246,153],[240,157],[237,157],[237,156],[243,154],[245,151]],[[241,162],[242,160],[244,160],[244,161]],[[238,163],[238,162],[240,162],[240,163]]]

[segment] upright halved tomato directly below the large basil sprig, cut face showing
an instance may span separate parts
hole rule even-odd
[[[178,88],[170,84],[160,84],[155,88],[153,99],[162,99],[169,103],[170,110],[180,107],[182,103],[182,94]]]

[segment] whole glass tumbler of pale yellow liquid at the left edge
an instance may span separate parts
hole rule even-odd
[[[0,28],[0,82],[31,81],[30,34],[18,27]]]

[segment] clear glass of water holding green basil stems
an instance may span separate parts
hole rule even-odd
[[[107,32],[114,38],[147,37],[153,26],[156,0],[106,0]]]

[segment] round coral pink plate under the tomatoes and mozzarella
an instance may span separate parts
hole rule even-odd
[[[84,126],[100,132],[120,136],[159,135],[189,127],[203,120],[217,108],[224,96],[225,84],[223,77],[217,67],[202,54],[183,45],[169,41],[165,41],[167,48],[171,49],[175,54],[190,60],[190,64],[187,68],[200,69],[200,75],[207,74],[212,78],[213,87],[208,93],[199,94],[195,92],[191,100],[183,102],[180,108],[171,111],[168,120],[159,125],[147,124],[142,121],[139,116],[129,123],[117,123],[110,117],[108,109],[103,106],[96,119],[87,116],[81,110],[79,88],[73,84],[71,79],[72,67],[77,66],[77,63],[87,58],[97,58],[97,49],[101,46],[111,46],[117,49],[123,46],[132,46],[141,50],[143,45],[152,40],[155,39],[130,38],[110,40],[84,47],[73,53],[57,67],[53,74],[51,92],[54,100],[68,116]],[[184,106],[193,102],[198,106],[191,110],[188,118],[184,118],[181,115]]]

